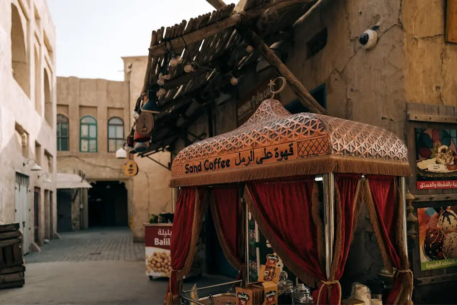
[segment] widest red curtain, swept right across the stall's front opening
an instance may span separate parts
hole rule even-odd
[[[323,247],[318,245],[319,241],[322,243],[323,234],[317,194],[314,177],[250,182],[245,192],[249,211],[273,250],[310,286],[314,286],[315,279],[326,280],[322,265]]]

